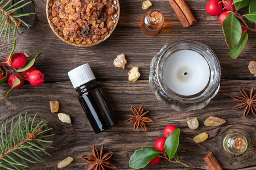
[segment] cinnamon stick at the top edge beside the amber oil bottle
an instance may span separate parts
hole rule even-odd
[[[196,22],[195,16],[193,16],[191,10],[189,9],[187,3],[184,0],[168,0],[174,8],[174,11],[179,18],[183,27],[188,27]]]

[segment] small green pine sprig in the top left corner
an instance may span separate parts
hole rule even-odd
[[[20,21],[22,24],[24,24],[26,27],[30,27],[31,25],[27,24],[26,22],[24,22],[23,20],[20,19],[20,17],[22,16],[28,16],[28,15],[32,15],[35,13],[27,13],[27,14],[13,14],[13,12],[19,10],[20,8],[28,5],[28,3],[31,2],[27,2],[24,3],[23,5],[19,6],[19,3],[22,3],[25,0],[20,0],[18,2],[16,2],[14,5],[11,5],[11,3],[13,2],[13,0],[9,0],[6,3],[5,0],[1,0],[0,1],[0,38],[3,34],[3,32],[5,31],[5,36],[4,38],[7,38],[7,42],[9,44],[9,40],[10,40],[10,35],[12,33],[14,39],[16,36],[16,32],[20,35],[20,29],[19,26],[16,22]]]

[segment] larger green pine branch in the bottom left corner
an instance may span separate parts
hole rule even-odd
[[[46,134],[48,128],[47,120],[36,121],[34,117],[19,115],[18,123],[14,125],[14,118],[11,120],[10,130],[8,120],[1,126],[0,142],[0,170],[3,169],[31,169],[27,163],[43,162],[40,158],[42,152],[48,154],[46,148],[52,148],[47,141],[48,137],[55,134]]]

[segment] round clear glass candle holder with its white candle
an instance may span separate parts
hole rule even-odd
[[[220,62],[201,42],[181,40],[164,45],[152,58],[150,69],[156,97],[176,111],[204,108],[220,88]]]

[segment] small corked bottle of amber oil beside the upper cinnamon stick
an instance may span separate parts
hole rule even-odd
[[[164,17],[160,11],[148,11],[141,22],[141,30],[148,36],[154,36],[162,29]]]

